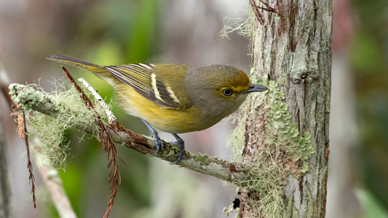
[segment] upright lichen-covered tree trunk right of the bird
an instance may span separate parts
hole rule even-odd
[[[281,15],[254,23],[251,77],[270,91],[248,100],[243,161],[257,167],[240,218],[324,218],[332,1],[268,3]]]

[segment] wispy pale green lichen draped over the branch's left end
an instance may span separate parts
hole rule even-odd
[[[53,84],[55,90],[51,93],[43,91],[38,84],[11,84],[9,88],[12,100],[26,111],[26,120],[31,123],[27,128],[28,134],[38,137],[38,140],[33,141],[31,150],[39,155],[43,165],[64,168],[70,143],[66,142],[65,130],[75,125],[87,125],[89,128],[94,126],[97,131],[95,125],[90,125],[97,118],[96,112],[105,122],[107,117],[98,101],[95,109],[88,109],[80,94],[69,83],[57,80]],[[30,111],[34,105],[42,106],[47,102],[54,106],[50,111],[55,112],[55,115]]]

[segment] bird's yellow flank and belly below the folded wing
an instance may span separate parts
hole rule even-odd
[[[155,102],[144,98],[133,88],[125,84],[116,84],[114,87],[120,107],[126,112],[145,119],[152,126],[169,133],[185,133],[200,131],[210,126],[198,123],[194,117],[200,110],[194,107],[189,109],[170,109],[159,106]],[[130,96],[130,98],[128,98]]]

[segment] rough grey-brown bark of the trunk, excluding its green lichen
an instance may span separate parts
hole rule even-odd
[[[268,139],[268,114],[271,105],[250,101],[246,122],[244,162],[259,160],[259,167],[273,163],[280,168],[283,189],[282,217],[324,218],[326,202],[327,160],[329,145],[329,107],[331,80],[331,0],[268,0],[283,15],[261,10],[264,24],[257,20],[253,37],[253,77],[275,81],[284,93],[291,123],[296,123],[299,136],[311,134],[314,150],[307,159],[308,170],[302,172],[302,159],[290,157],[287,146],[277,151]],[[258,5],[260,5],[257,2]],[[280,137],[276,134],[275,137]],[[305,137],[306,138],[306,137]],[[264,152],[263,152],[264,151]],[[275,154],[276,153],[276,154]],[[269,156],[275,155],[275,161]],[[273,157],[273,156],[271,156]],[[261,161],[260,161],[261,160]],[[270,195],[270,193],[268,193]],[[240,217],[271,217],[257,210],[263,197],[255,191],[241,193]],[[253,201],[252,201],[253,200]],[[279,215],[279,214],[278,214]]]

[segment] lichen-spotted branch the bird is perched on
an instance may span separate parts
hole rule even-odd
[[[54,94],[50,95],[43,91],[37,91],[31,86],[21,84],[11,84],[9,90],[12,100],[20,104],[24,111],[32,109],[51,118],[67,115],[67,126],[92,134],[99,139],[97,127],[93,121],[90,121],[93,116],[85,115],[84,119],[80,119],[77,113],[83,113],[83,111],[74,111],[75,108],[85,107],[83,103],[75,107],[71,105],[74,104],[74,99],[72,102],[59,101],[57,97],[53,96]],[[163,150],[155,153],[156,147],[153,138],[138,134],[116,123],[106,123],[106,125],[109,135],[115,143],[120,143],[126,148],[170,162],[176,158],[175,154],[178,152],[178,146],[175,144],[164,142]],[[242,163],[229,162],[218,159],[218,157],[209,157],[199,153],[193,154],[188,151],[186,151],[184,159],[178,165],[228,182],[245,180],[249,172]]]

